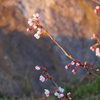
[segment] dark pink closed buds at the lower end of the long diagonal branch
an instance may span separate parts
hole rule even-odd
[[[92,64],[88,64],[88,62],[84,62],[83,64],[79,60],[72,61],[68,65],[65,66],[65,69],[69,69],[71,65],[75,65],[76,67],[72,70],[73,74],[76,74],[77,69],[79,66],[83,67],[84,69],[87,70],[94,70],[94,71],[99,71],[99,69],[91,68]]]

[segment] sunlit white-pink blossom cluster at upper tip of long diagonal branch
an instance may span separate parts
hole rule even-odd
[[[34,34],[34,37],[36,39],[39,39],[44,33],[42,29],[42,25],[39,24],[39,19],[40,19],[40,16],[38,13],[33,14],[32,18],[28,19],[29,27],[27,28],[27,31],[30,32],[32,31],[32,29],[37,30],[37,33]]]

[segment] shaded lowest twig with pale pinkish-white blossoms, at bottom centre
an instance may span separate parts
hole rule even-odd
[[[64,89],[61,87],[58,87],[58,85],[52,80],[52,77],[47,73],[47,69],[42,67],[42,66],[35,66],[36,70],[42,70],[43,71],[43,75],[40,75],[39,80],[41,82],[45,82],[46,80],[50,79],[55,86],[57,87],[57,90],[53,91],[53,90],[48,90],[48,89],[44,89],[44,94],[46,97],[49,97],[50,95],[54,94],[55,96],[57,96],[60,100],[65,99],[66,97],[64,96]],[[67,93],[68,99],[72,100],[71,93]]]

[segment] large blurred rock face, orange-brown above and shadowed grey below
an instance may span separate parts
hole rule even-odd
[[[98,65],[98,57],[89,50],[93,44],[90,37],[99,32],[93,7],[85,0],[0,0],[0,92],[22,96],[26,80],[27,93],[40,95],[44,88],[52,88],[50,81],[38,80],[41,72],[35,71],[36,65],[46,67],[60,85],[72,80],[73,67],[64,69],[71,60],[47,36],[36,40],[35,31],[26,32],[27,18],[36,12],[44,28],[68,54]],[[76,77],[84,74],[80,68]]]

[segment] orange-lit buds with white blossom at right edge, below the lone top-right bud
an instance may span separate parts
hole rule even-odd
[[[93,36],[91,37],[91,40],[97,40],[97,43],[90,46],[90,50],[95,51],[96,56],[100,57],[100,49],[97,47],[100,45],[100,39],[95,34],[93,34]]]

